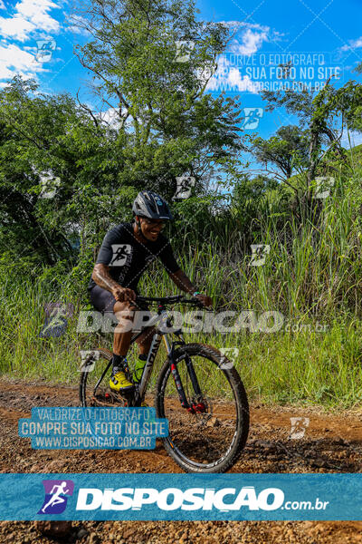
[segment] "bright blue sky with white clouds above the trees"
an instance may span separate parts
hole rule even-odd
[[[257,128],[245,131],[268,137],[281,125],[295,122],[285,112],[261,110],[261,85],[285,83],[276,75],[278,59],[283,58],[277,55],[293,55],[296,84],[322,84],[328,71],[338,75],[338,86],[360,77],[351,71],[362,63],[362,0],[199,0],[197,7],[200,18],[224,22],[235,32],[210,92],[237,93],[243,108],[259,108]],[[70,13],[71,1],[0,0],[0,87],[22,73],[34,77],[44,92],[75,95],[81,89],[81,99],[92,102],[86,86],[89,75],[72,53],[73,44],[84,43],[86,36],[71,28]],[[46,61],[37,57],[39,40],[51,41]],[[362,142],[358,134],[354,139]]]

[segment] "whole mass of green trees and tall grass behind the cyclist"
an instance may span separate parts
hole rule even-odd
[[[361,85],[265,93],[267,110],[285,107],[300,127],[254,139],[258,160],[282,175],[252,179],[241,159],[238,99],[205,93],[225,26],[197,21],[194,3],[180,0],[91,8],[80,24],[93,38],[77,52],[118,125],[68,94],[39,92],[32,80],[16,77],[0,91],[0,371],[78,379],[79,350],[99,340],[76,329],[101,240],[131,219],[132,200],[148,188],[172,204],[167,235],[178,262],[219,309],[276,310],[300,327],[187,338],[238,346],[237,368],[253,397],[360,403],[362,153],[341,148],[336,123],[362,130]],[[189,62],[175,60],[180,40],[195,42]],[[41,195],[46,172],[61,181],[49,199]],[[195,188],[176,201],[184,174]],[[316,175],[335,179],[327,199],[313,197]],[[210,190],[210,180],[221,191]],[[251,266],[252,244],[270,247],[262,267]],[[153,266],[141,291],[166,296],[175,286]],[[43,340],[43,305],[55,301],[71,302],[76,313],[66,335]],[[301,326],[317,322],[328,331]]]

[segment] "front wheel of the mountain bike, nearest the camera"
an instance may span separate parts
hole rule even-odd
[[[191,360],[201,395],[196,395],[186,367]],[[238,460],[249,432],[249,405],[242,380],[231,362],[209,345],[188,344],[175,351],[186,398],[194,413],[181,406],[169,361],[157,381],[157,417],[168,419],[163,439],[168,454],[187,472],[224,472]]]

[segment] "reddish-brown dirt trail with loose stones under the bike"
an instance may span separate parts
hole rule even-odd
[[[152,404],[152,399],[149,399]],[[78,387],[0,382],[0,472],[180,472],[162,443],[154,451],[32,450],[17,421],[33,406],[76,406]],[[300,440],[291,440],[291,417],[308,417]],[[251,431],[233,472],[359,472],[362,410],[338,414],[311,407],[251,406]],[[65,522],[68,523],[68,522]],[[175,521],[69,522],[64,538],[48,538],[36,522],[0,522],[0,543],[13,542],[292,542],[362,543],[362,522]],[[46,527],[43,526],[43,530]],[[61,534],[61,533],[59,533]]]

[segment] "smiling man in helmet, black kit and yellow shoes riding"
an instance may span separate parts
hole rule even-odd
[[[92,305],[102,313],[113,312],[119,323],[114,332],[110,377],[110,389],[119,393],[134,389],[125,374],[132,330],[124,326],[123,320],[131,320],[138,309],[134,303],[138,281],[154,259],[161,260],[177,287],[197,297],[204,306],[212,304],[210,296],[199,293],[178,266],[169,241],[161,234],[165,221],[173,219],[167,201],[150,190],[142,190],[133,202],[132,211],[133,222],[120,223],[103,239],[88,287]],[[149,327],[137,340],[141,370],[153,333],[153,327]]]

